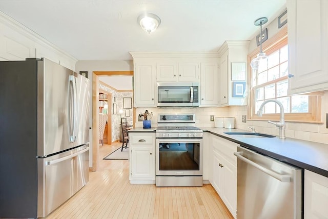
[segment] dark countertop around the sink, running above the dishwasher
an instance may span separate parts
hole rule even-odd
[[[328,177],[328,144],[285,138],[236,137],[223,132],[248,132],[240,129],[203,128],[229,141],[276,158],[279,161]]]

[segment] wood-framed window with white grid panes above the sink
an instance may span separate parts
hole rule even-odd
[[[286,121],[320,121],[321,102],[318,93],[288,95],[288,38],[282,30],[271,41],[265,42],[263,51],[269,55],[267,63],[258,70],[251,69],[250,117],[261,120],[279,120],[280,108],[270,102],[264,105],[263,116],[258,117],[260,105],[268,99],[276,99],[283,105]],[[258,51],[250,56],[256,57]]]

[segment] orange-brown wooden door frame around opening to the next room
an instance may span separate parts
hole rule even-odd
[[[99,167],[99,76],[131,76],[133,71],[93,71],[92,73],[92,171]],[[133,126],[135,124],[135,108],[133,108]]]

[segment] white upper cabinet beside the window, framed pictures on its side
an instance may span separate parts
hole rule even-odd
[[[226,41],[219,49],[219,106],[246,106],[247,96],[233,97],[232,63],[247,63],[249,41]],[[247,71],[245,72],[245,77]],[[242,80],[241,82],[245,82]],[[239,81],[240,82],[240,81]],[[246,89],[245,89],[246,90]]]

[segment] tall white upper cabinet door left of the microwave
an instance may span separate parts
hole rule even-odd
[[[155,64],[135,65],[134,74],[135,107],[155,107]]]

